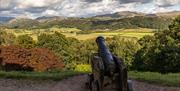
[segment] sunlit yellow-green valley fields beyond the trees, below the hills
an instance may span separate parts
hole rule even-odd
[[[139,28],[139,29],[119,29],[116,31],[101,31],[98,30],[96,32],[87,33],[87,34],[79,34],[78,32],[81,30],[75,28],[52,28],[52,29],[34,29],[34,30],[22,30],[22,29],[7,29],[6,32],[13,33],[16,36],[19,35],[30,35],[34,40],[37,40],[37,36],[41,33],[52,34],[54,32],[60,32],[66,37],[73,37],[78,40],[87,40],[92,39],[97,36],[104,37],[113,37],[115,35],[119,35],[122,37],[135,37],[142,38],[145,35],[153,35],[153,29]],[[93,31],[93,30],[92,30]]]

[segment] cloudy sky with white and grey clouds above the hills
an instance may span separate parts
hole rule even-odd
[[[120,11],[180,11],[180,0],[0,0],[0,16],[90,17]]]

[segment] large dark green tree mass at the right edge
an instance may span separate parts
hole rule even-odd
[[[136,53],[134,68],[158,72],[180,71],[180,16],[168,30],[139,40],[142,48]]]

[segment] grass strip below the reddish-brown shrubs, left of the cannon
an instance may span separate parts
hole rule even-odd
[[[79,72],[79,71],[55,71],[55,72],[0,71],[0,78],[61,80],[75,75],[86,74],[86,73],[87,72]]]

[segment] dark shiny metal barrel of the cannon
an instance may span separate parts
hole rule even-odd
[[[102,36],[97,37],[96,43],[98,46],[98,55],[102,58],[105,74],[111,75],[115,68],[115,62],[113,56],[105,44],[105,39]]]

